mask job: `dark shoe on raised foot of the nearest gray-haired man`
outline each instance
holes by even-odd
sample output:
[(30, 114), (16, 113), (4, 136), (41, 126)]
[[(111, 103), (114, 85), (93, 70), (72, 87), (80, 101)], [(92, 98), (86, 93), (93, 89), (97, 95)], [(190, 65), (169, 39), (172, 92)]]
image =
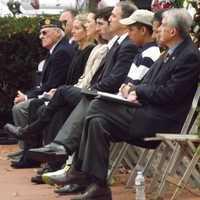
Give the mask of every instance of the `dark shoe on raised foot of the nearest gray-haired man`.
[(69, 171), (64, 174), (51, 177), (51, 181), (57, 185), (88, 185), (90, 183), (90, 177), (80, 171)]

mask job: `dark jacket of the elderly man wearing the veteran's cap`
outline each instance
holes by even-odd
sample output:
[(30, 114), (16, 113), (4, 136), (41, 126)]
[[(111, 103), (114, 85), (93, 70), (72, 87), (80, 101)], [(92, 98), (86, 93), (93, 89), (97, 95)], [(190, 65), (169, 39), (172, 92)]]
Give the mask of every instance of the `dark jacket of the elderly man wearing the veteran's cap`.
[(63, 38), (45, 61), (40, 87), (28, 91), (28, 98), (37, 97), (44, 91), (64, 84), (73, 55), (73, 46), (66, 38)]

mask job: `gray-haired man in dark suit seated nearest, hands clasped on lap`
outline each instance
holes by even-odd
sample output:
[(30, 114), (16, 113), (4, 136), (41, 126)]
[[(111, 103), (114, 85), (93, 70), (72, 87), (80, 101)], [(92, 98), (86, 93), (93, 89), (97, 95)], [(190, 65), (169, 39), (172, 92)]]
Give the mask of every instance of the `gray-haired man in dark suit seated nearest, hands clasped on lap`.
[[(179, 132), (200, 74), (200, 53), (189, 36), (192, 17), (185, 9), (163, 14), (159, 43), (168, 47), (138, 85), (123, 85), (124, 98), (142, 106), (94, 99), (87, 110), (76, 162), (57, 183), (88, 184), (72, 198), (112, 199), (107, 185), (110, 142), (134, 143), (156, 132)], [(67, 150), (67, 149), (66, 149)]]

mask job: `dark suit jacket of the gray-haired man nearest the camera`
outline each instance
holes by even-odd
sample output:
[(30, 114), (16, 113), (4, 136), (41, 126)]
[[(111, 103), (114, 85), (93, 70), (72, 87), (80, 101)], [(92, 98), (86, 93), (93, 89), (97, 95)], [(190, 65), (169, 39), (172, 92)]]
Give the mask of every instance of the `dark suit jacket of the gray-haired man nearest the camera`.
[(139, 138), (180, 132), (200, 74), (200, 53), (186, 38), (166, 63), (159, 59), (136, 86), (141, 108), (134, 110), (130, 133)]

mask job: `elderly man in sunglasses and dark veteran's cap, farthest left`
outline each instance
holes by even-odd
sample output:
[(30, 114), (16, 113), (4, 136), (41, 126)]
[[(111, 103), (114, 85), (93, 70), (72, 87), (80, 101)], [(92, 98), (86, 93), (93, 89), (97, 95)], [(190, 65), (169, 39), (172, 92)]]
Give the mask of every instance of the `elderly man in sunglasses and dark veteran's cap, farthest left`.
[[(16, 126), (24, 127), (28, 124), (28, 107), (33, 99), (65, 83), (67, 71), (74, 54), (74, 48), (66, 42), (65, 33), (59, 21), (44, 19), (41, 21), (40, 27), (39, 38), (42, 47), (48, 49), (49, 53), (43, 65), (40, 85), (26, 93), (18, 91), (14, 99), (15, 105), (12, 114)], [(19, 163), (22, 164), (21, 160), (19, 160)], [(22, 165), (25, 163), (23, 162)]]

